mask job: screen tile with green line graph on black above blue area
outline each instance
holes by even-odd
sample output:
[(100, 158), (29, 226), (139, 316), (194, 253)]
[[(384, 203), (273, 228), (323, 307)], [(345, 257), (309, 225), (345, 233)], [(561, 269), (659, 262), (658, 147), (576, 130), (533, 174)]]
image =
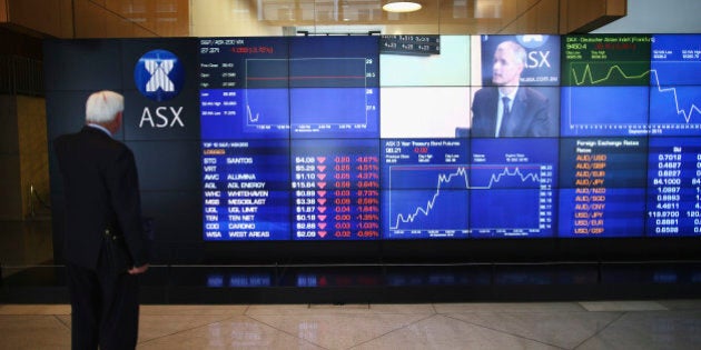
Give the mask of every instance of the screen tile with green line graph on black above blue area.
[(562, 136), (646, 134), (650, 36), (571, 36), (563, 42)]

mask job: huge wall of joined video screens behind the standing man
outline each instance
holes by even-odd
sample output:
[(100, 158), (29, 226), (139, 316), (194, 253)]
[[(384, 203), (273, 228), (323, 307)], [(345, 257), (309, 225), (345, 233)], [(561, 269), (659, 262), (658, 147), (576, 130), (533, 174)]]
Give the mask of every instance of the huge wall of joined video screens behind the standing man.
[(701, 36), (45, 48), (50, 136), (125, 93), (118, 137), (180, 242), (701, 236)]

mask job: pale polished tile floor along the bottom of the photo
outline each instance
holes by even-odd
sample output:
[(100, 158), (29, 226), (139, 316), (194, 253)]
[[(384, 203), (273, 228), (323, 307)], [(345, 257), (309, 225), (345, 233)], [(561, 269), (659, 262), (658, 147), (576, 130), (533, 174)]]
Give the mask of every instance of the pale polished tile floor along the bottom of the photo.
[[(0, 304), (0, 349), (69, 348), (69, 306)], [(701, 299), (146, 304), (138, 349), (701, 349)]]

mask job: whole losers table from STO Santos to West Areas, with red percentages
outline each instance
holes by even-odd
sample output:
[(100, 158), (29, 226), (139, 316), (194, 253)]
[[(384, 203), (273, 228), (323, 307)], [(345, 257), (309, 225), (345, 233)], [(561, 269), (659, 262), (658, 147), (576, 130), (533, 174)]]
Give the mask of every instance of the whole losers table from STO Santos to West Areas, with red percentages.
[(379, 238), (376, 140), (203, 144), (207, 240)]

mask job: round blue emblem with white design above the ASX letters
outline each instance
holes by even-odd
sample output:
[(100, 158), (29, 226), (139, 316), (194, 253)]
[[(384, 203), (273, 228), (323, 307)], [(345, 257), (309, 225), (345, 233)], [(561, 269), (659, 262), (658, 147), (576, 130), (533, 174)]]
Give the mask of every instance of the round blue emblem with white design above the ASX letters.
[(141, 94), (159, 102), (180, 93), (184, 77), (180, 60), (167, 50), (146, 52), (134, 68), (134, 82)]

